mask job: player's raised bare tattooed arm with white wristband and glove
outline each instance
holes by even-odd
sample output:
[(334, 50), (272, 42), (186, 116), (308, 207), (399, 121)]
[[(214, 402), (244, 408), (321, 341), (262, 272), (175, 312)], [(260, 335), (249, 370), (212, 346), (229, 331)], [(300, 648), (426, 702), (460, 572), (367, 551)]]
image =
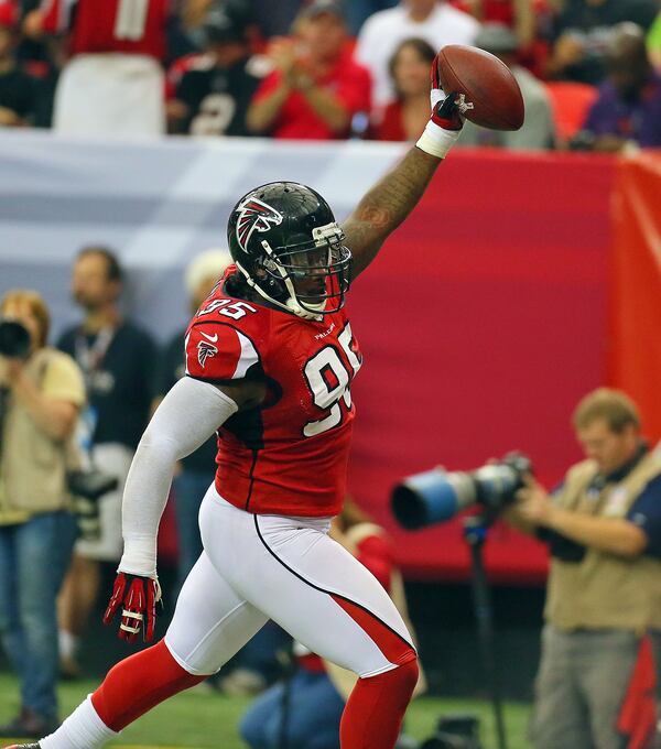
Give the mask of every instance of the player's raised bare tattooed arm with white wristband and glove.
[(459, 135), (462, 99), (447, 97), (432, 64), (432, 115), (418, 143), (360, 200), (343, 225), (354, 261), (351, 280), (377, 257), (388, 236), (418, 205), (436, 167)]

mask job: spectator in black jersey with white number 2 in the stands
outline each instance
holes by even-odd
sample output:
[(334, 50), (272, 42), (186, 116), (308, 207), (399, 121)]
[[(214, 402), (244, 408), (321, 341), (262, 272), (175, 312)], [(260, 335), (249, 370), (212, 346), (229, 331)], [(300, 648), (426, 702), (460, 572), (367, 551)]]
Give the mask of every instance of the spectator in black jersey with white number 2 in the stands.
[(246, 22), (231, 8), (216, 6), (203, 28), (205, 53), (188, 62), (175, 98), (167, 102), (170, 130), (248, 135), (246, 112), (264, 70), (250, 54)]

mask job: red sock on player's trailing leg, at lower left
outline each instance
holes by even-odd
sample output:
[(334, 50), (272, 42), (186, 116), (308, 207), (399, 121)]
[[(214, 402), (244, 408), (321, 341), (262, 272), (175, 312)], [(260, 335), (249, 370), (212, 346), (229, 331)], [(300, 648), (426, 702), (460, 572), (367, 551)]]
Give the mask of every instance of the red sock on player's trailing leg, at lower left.
[(91, 704), (108, 728), (119, 731), (167, 697), (205, 679), (182, 669), (161, 640), (110, 669), (91, 695)]

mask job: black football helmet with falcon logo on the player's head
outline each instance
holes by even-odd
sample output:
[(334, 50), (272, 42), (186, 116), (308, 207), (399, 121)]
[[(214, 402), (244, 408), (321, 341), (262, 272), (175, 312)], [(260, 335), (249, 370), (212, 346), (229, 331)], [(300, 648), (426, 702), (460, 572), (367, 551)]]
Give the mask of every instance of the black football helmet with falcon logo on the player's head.
[(231, 211), (227, 240), (248, 284), (272, 304), (306, 319), (344, 305), (351, 252), (311, 187), (270, 182), (251, 189)]

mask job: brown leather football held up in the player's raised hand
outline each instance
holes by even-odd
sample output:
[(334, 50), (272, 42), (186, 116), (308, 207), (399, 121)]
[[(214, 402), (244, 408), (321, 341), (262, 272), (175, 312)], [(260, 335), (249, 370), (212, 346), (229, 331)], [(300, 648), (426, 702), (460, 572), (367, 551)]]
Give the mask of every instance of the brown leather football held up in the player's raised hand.
[(491, 130), (519, 130), (523, 124), (521, 89), (498, 57), (477, 47), (447, 44), (437, 61), (443, 90), (465, 96), (466, 119)]

